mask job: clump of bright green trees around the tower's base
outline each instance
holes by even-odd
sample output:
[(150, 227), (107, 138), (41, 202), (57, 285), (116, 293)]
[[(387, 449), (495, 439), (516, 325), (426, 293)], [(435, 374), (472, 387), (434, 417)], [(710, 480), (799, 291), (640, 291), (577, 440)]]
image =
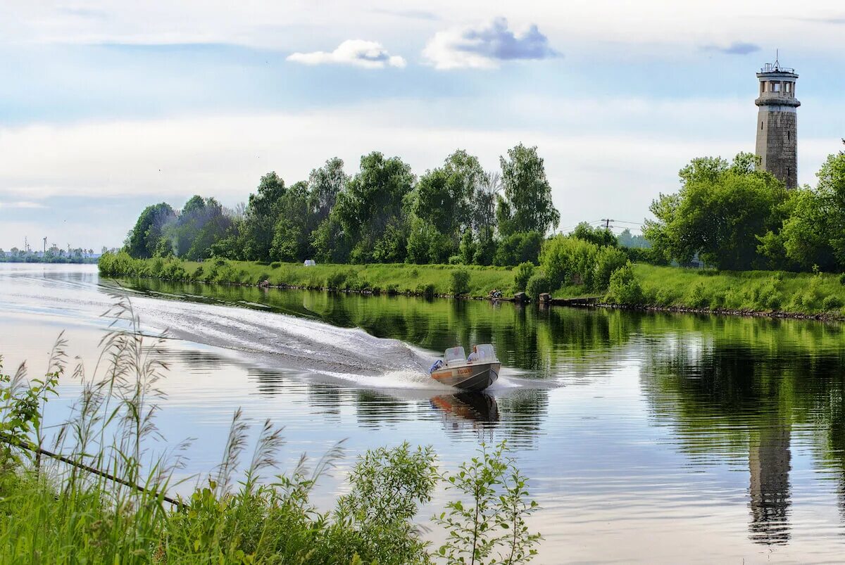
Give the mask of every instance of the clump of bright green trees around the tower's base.
[(750, 153), (690, 161), (679, 192), (651, 204), (654, 253), (724, 270), (845, 270), (845, 152), (828, 156), (815, 187), (794, 190), (756, 164)]

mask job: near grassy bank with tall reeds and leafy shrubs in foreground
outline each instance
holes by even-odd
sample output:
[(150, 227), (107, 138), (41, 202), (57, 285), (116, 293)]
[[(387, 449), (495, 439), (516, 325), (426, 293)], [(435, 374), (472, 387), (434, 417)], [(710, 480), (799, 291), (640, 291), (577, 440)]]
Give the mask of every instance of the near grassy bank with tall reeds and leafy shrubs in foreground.
[[(322, 510), (310, 495), (344, 456), (342, 443), (281, 470), (281, 428), (264, 421), (249, 454), (253, 434), (236, 410), (221, 464), (188, 497), (169, 502), (188, 446), (169, 456), (153, 451), (163, 432), (162, 340), (139, 334), (128, 302), (106, 315), (126, 329), (104, 338), (94, 374), (81, 364), (73, 371), (81, 392), (59, 426), (42, 422), (65, 376), (66, 342), (57, 342), (41, 379), (29, 381), (23, 369), (4, 375), (0, 356), (0, 562), (457, 565), (535, 555), (541, 538), (526, 518), (537, 505), (504, 443), (482, 446), (454, 471), (442, 470), (430, 447), (370, 449), (333, 508)], [(436, 489), (452, 502), (429, 521), (420, 509)], [(439, 528), (443, 546), (423, 539), (421, 522)]]

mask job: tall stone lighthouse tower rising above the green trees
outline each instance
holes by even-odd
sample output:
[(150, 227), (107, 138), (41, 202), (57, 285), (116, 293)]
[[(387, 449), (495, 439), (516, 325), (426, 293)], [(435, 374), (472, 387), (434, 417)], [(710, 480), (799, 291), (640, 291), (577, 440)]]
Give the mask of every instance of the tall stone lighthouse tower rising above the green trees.
[(798, 107), (793, 68), (767, 62), (760, 73), (760, 107), (757, 116), (757, 148), (760, 169), (779, 178), (787, 188), (798, 186)]

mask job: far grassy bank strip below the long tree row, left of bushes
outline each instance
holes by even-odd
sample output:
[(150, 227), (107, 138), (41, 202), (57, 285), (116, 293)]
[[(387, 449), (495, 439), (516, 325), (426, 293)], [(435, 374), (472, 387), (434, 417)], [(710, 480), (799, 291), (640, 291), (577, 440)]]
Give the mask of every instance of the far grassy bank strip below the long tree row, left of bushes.
[(487, 296), (512, 290), (514, 275), (506, 267), (476, 265), (414, 265), (407, 263), (338, 265), (254, 263), (210, 259), (203, 263), (179, 259), (134, 259), (126, 253), (106, 253), (99, 263), (106, 276), (154, 277), (210, 283), (274, 286), (395, 294)]

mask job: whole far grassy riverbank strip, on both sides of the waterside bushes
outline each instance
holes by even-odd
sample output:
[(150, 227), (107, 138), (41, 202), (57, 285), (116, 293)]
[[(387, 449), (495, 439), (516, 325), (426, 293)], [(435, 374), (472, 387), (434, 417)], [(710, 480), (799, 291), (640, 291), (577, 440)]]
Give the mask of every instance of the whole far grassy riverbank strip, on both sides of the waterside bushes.
[[(133, 259), (106, 254), (105, 276), (137, 276), (226, 285), (264, 285), (410, 296), (482, 298), (491, 291), (514, 294), (514, 271), (477, 265), (250, 263), (216, 259), (195, 263), (178, 259)], [(553, 292), (553, 304), (629, 307), (664, 312), (755, 315), (775, 318), (845, 318), (845, 285), (838, 274), (782, 271), (729, 272), (633, 265), (640, 286), (635, 302), (605, 300), (584, 285)]]

